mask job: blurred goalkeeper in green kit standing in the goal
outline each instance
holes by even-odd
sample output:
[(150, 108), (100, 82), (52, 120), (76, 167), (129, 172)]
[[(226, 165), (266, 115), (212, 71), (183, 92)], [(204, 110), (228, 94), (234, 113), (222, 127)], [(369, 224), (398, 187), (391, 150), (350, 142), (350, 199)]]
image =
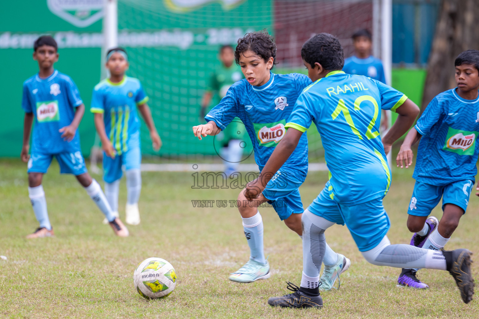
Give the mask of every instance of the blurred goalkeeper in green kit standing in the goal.
[[(219, 60), (221, 61), (221, 65), (211, 73), (205, 95), (201, 102), (201, 121), (205, 118), (206, 110), (211, 101), (214, 100), (214, 105), (217, 105), (219, 101), (226, 96), (229, 87), (243, 78), (241, 68), (234, 63), (234, 48), (231, 45), (221, 46), (219, 49)], [(235, 118), (228, 124), (226, 129), (216, 137), (221, 145), (220, 156), (225, 164), (225, 173), (228, 177), (238, 169), (238, 164), (241, 161), (241, 155), (244, 149), (244, 145), (241, 145), (241, 142), (245, 132), (244, 124), (239, 118)]]

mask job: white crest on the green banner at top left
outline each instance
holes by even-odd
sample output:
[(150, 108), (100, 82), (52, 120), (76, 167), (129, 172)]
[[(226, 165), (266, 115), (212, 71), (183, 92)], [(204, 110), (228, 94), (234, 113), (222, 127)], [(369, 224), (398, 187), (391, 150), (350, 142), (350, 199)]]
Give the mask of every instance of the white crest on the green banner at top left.
[(47, 0), (46, 4), (53, 14), (79, 28), (103, 17), (104, 0)]

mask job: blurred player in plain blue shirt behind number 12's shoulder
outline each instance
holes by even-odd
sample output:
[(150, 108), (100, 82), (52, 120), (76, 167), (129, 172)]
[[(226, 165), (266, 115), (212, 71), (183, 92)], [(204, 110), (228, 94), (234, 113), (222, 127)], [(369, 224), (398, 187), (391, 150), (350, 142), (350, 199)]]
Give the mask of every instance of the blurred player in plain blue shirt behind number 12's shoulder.
[[(386, 77), (384, 76), (383, 63), (380, 59), (371, 55), (373, 40), (369, 30), (358, 30), (353, 34), (352, 38), (354, 55), (344, 60), (342, 70), (347, 74), (364, 75), (365, 77), (370, 77), (387, 84)], [(388, 125), (388, 113), (386, 110), (382, 110), (382, 131), (386, 131)]]

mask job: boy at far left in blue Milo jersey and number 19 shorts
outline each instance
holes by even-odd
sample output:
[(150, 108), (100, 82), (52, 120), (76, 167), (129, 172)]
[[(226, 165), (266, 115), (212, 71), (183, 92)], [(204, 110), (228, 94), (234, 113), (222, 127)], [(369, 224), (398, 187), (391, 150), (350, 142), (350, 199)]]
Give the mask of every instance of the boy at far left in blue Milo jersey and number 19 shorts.
[[(100, 185), (91, 178), (80, 151), (77, 132), (85, 106), (78, 89), (65, 74), (54, 69), (58, 61), (57, 42), (51, 36), (41, 36), (34, 43), (34, 60), (38, 61), (38, 74), (23, 83), (22, 108), (23, 147), (21, 158), (28, 162), (28, 195), (40, 227), (27, 238), (53, 236), (53, 228), (46, 209), (43, 175), (55, 156), (60, 173), (74, 174), (88, 195), (110, 223), (118, 236), (128, 236), (128, 230), (115, 218)], [(35, 121), (32, 154), (29, 155), (30, 132)]]

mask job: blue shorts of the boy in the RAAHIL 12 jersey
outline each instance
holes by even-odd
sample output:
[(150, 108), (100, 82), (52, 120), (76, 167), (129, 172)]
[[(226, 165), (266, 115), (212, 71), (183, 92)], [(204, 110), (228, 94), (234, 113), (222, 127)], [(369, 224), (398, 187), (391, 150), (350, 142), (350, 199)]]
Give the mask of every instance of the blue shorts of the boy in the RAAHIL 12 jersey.
[(331, 222), (346, 224), (360, 252), (376, 247), (391, 226), (383, 207), (383, 199), (376, 198), (362, 204), (345, 206), (331, 198), (332, 188), (329, 187), (328, 182), (308, 210)]

